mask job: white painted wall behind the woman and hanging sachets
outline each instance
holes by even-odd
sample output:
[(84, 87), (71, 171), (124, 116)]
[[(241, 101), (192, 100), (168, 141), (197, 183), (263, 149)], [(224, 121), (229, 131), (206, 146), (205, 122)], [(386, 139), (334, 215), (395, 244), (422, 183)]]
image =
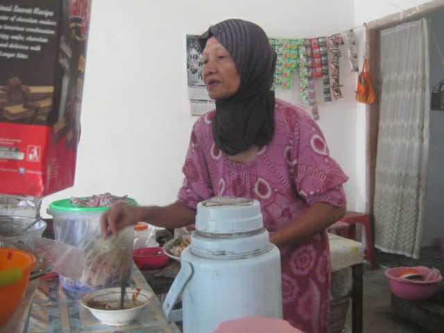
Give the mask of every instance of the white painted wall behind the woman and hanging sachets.
[[(46, 216), (53, 200), (105, 191), (128, 194), (144, 205), (176, 200), (196, 120), (187, 99), (187, 33), (199, 34), (210, 24), (237, 17), (256, 22), (269, 37), (319, 37), (384, 17), (398, 7), (384, 0), (94, 0), (76, 181), (74, 187), (44, 198), (42, 214)], [(365, 114), (354, 99), (357, 74), (349, 68), (343, 57), (344, 98), (321, 103), (318, 123), (330, 152), (350, 176), (345, 184), (349, 209), (364, 210)], [(298, 94), (292, 89), (277, 95), (299, 103)]]

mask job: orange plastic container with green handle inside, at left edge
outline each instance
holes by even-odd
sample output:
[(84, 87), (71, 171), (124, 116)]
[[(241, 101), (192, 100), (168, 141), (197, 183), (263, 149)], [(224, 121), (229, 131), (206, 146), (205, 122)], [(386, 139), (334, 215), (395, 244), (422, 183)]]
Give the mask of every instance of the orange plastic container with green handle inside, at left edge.
[(31, 253), (15, 248), (0, 248), (0, 271), (20, 267), (23, 272), (19, 281), (0, 287), (0, 299), (3, 302), (0, 307), (0, 327), (8, 323), (22, 302), (34, 265), (35, 257)]

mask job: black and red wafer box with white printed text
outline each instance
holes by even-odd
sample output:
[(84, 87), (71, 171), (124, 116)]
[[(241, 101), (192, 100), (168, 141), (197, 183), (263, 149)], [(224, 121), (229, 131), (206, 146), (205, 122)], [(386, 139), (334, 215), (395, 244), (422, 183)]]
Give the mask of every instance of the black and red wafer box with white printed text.
[(0, 193), (74, 185), (92, 0), (0, 2)]

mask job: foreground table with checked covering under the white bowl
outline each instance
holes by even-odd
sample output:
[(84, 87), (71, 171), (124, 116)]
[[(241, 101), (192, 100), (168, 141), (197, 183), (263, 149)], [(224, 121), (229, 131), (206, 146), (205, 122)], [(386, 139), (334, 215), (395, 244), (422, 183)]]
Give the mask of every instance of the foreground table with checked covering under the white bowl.
[[(130, 287), (153, 291), (133, 263)], [(80, 304), (82, 293), (63, 289), (58, 277), (40, 279), (26, 316), (23, 333), (180, 333), (175, 323), (165, 318), (160, 300), (154, 298), (136, 321), (121, 327), (102, 324)]]

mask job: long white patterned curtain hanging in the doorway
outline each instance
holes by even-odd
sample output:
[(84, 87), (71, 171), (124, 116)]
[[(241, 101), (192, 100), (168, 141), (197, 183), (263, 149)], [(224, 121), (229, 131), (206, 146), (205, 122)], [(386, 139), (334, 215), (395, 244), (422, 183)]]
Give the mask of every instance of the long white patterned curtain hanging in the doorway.
[(429, 152), (427, 21), (380, 31), (375, 247), (418, 258)]

